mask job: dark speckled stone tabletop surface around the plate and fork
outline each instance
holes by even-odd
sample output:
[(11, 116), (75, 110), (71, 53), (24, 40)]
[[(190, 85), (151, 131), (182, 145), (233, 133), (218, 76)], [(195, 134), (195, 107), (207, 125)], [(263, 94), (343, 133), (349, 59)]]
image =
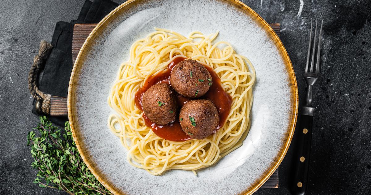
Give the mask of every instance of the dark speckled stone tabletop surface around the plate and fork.
[[(122, 1), (116, 1), (122, 3)], [(315, 85), (308, 194), (371, 193), (371, 5), (368, 0), (244, 1), (268, 23), (281, 23), (281, 40), (292, 60), (302, 102), (302, 78), (311, 17), (325, 19), (323, 77)], [(5, 0), (0, 6), (0, 194), (58, 194), (33, 184), (36, 170), (26, 134), (36, 126), (27, 74), (41, 39), (51, 40), (55, 23), (75, 19), (81, 0)], [(295, 135), (294, 142), (295, 144)], [(280, 166), (278, 189), (256, 194), (288, 194), (292, 156)], [(63, 193), (60, 193), (63, 194)]]

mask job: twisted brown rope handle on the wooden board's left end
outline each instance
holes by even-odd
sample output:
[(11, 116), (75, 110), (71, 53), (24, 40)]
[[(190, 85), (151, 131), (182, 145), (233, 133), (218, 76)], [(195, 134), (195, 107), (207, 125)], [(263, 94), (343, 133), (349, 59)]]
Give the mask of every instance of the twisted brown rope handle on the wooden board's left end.
[(37, 79), (39, 72), (45, 65), (45, 61), (52, 51), (53, 45), (42, 40), (39, 46), (39, 53), (33, 58), (33, 64), (28, 74), (28, 88), (33, 98), (36, 99), (36, 111), (37, 113), (50, 113), (50, 98), (52, 95), (44, 93), (39, 90)]

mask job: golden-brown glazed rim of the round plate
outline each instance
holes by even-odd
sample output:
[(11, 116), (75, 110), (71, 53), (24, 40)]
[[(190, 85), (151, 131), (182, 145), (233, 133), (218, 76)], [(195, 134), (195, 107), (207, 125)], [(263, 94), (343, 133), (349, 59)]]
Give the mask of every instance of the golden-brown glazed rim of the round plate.
[[(75, 140), (76, 146), (80, 152), (80, 155), (83, 159), (83, 161), (86, 163), (86, 166), (91, 170), (93, 175), (96, 179), (98, 179), (99, 182), (101, 182), (110, 192), (113, 194), (124, 194), (121, 189), (115, 188), (111, 182), (102, 174), (102, 172), (96, 168), (95, 163), (93, 163), (90, 160), (90, 154), (85, 149), (84, 143), (80, 142), (82, 138), (81, 131), (79, 130), (79, 122), (77, 120), (77, 113), (74, 108), (76, 108), (76, 85), (79, 82), (79, 75), (81, 74), (81, 69), (83, 62), (86, 58), (86, 51), (91, 47), (93, 44), (93, 41), (96, 36), (101, 34), (102, 30), (105, 29), (107, 24), (111, 22), (114, 18), (120, 15), (120, 13), (125, 12), (126, 10), (130, 9), (131, 6), (134, 4), (140, 2), (142, 0), (128, 0), (125, 3), (121, 4), (120, 6), (116, 7), (116, 9), (112, 10), (104, 19), (102, 19), (101, 22), (98, 23), (98, 25), (93, 29), (93, 31), (90, 33), (88, 38), (85, 40), (77, 58), (75, 61), (75, 65), (72, 69), (72, 74), (69, 82), (68, 87), (68, 119), (70, 122), (70, 126), (73, 133), (73, 139)], [(283, 157), (285, 157), (286, 152), (290, 146), (291, 139), (295, 130), (295, 124), (298, 116), (298, 86), (296, 84), (296, 78), (295, 78), (295, 72), (292, 67), (289, 55), (283, 46), (281, 40), (278, 38), (276, 33), (273, 31), (273, 29), (268, 25), (268, 23), (261, 17), (259, 14), (257, 14), (254, 10), (252, 10), (250, 7), (246, 6), (242, 2), (238, 0), (223, 0), (227, 1), (228, 3), (239, 7), (240, 9), (244, 10), (246, 14), (250, 14), (252, 18), (260, 24), (260, 26), (266, 30), (269, 37), (273, 40), (273, 42), (276, 44), (280, 51), (280, 55), (283, 58), (283, 61), (285, 62), (286, 70), (288, 72), (289, 76), (289, 82), (290, 82), (290, 92), (291, 92), (291, 113), (289, 118), (289, 126), (286, 131), (286, 137), (282, 148), (280, 149), (280, 153), (276, 156), (274, 159), (274, 162), (272, 163), (271, 167), (265, 171), (262, 178), (257, 179), (251, 188), (244, 189), (242, 194), (253, 194), (257, 189), (259, 189), (269, 178), (270, 176), (275, 172), (275, 170), (278, 168), (280, 163), (283, 160)]]

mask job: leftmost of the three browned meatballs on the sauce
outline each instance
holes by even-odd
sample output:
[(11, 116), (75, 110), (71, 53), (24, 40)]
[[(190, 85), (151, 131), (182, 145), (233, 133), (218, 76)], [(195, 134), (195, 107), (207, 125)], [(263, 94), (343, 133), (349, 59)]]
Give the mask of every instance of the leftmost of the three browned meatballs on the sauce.
[(166, 83), (155, 84), (144, 92), (142, 106), (145, 115), (157, 124), (168, 124), (177, 116), (175, 92)]

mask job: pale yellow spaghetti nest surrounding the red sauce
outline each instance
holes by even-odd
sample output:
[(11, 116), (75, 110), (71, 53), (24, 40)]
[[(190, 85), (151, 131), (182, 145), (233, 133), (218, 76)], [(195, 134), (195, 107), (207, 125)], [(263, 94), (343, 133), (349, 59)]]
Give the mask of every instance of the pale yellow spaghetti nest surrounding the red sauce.
[[(156, 28), (130, 49), (129, 61), (118, 71), (108, 97), (116, 114), (108, 117), (108, 127), (128, 150), (128, 162), (152, 175), (165, 170), (195, 170), (211, 166), (242, 145), (250, 127), (252, 86), (255, 69), (249, 59), (236, 54), (228, 42), (212, 44), (217, 33), (208, 36), (191, 32), (188, 37)], [(223, 49), (217, 46), (225, 45)], [(232, 106), (223, 127), (206, 139), (172, 142), (158, 137), (145, 125), (143, 113), (135, 105), (135, 93), (151, 75), (166, 69), (182, 56), (210, 66), (219, 76), (224, 90), (232, 97)]]

